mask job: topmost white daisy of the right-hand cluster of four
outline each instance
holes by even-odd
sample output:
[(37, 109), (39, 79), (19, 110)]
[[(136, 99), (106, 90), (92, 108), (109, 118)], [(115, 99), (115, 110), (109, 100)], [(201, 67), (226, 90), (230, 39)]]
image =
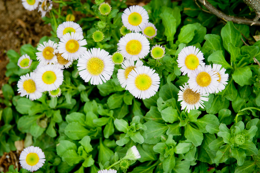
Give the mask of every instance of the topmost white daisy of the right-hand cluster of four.
[(199, 65), (205, 65), (203, 60), (203, 53), (199, 51), (199, 48), (188, 46), (181, 49), (177, 62), (178, 67), (181, 67), (180, 71), (183, 72), (183, 75), (188, 74), (188, 77), (190, 77), (191, 72), (197, 69)]

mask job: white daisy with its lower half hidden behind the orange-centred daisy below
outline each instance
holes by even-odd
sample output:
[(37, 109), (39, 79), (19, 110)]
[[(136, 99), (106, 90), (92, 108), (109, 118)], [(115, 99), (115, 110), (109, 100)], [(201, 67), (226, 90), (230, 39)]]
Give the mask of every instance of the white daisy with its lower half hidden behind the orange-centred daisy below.
[(73, 21), (63, 22), (62, 24), (59, 24), (57, 28), (57, 37), (61, 39), (64, 34), (72, 33), (72, 32), (83, 35), (82, 28), (80, 27), (79, 24)]

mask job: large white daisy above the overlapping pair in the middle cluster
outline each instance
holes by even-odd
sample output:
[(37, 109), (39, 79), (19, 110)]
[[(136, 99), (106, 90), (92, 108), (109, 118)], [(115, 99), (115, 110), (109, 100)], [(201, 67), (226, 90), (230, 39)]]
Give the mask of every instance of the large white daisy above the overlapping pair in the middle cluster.
[(117, 43), (117, 50), (128, 60), (139, 60), (148, 55), (150, 42), (141, 33), (129, 33), (123, 36)]

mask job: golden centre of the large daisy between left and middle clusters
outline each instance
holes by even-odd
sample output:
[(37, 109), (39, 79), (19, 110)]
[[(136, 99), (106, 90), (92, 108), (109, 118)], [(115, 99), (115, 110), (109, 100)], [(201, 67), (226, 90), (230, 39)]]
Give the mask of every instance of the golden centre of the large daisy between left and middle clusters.
[(97, 57), (92, 57), (88, 60), (86, 69), (88, 70), (89, 74), (98, 76), (103, 72), (104, 62)]

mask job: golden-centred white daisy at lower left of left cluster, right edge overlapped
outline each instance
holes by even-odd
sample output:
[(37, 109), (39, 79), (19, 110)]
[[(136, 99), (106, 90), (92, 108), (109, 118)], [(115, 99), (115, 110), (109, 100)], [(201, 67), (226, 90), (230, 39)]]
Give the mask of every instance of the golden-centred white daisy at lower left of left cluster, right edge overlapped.
[(20, 77), (17, 83), (17, 91), (21, 93), (20, 96), (23, 97), (26, 95), (26, 98), (29, 97), (30, 100), (36, 100), (42, 97), (42, 89), (35, 82), (35, 72), (27, 73)]

